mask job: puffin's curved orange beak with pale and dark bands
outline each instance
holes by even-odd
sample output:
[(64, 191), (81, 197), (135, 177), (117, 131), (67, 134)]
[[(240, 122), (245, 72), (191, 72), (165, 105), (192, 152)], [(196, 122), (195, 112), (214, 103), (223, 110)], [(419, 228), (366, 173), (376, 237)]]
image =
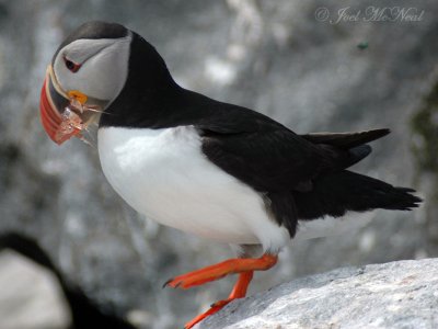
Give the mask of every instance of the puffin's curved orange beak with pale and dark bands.
[(80, 124), (71, 124), (65, 115), (70, 102), (71, 98), (59, 87), (51, 66), (48, 66), (41, 93), (39, 112), (44, 129), (58, 145), (81, 133)]

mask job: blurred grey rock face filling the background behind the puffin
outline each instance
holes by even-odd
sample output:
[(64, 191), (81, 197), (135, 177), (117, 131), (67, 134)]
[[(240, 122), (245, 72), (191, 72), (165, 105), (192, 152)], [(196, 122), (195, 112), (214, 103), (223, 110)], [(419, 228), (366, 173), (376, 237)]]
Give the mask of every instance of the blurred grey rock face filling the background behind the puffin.
[[(79, 140), (58, 147), (45, 136), (37, 109), (46, 65), (70, 31), (95, 19), (145, 36), (182, 86), (261, 111), (298, 133), (390, 127), (392, 135), (355, 169), (395, 185), (413, 185), (416, 177), (417, 189), (434, 186), (434, 174), (415, 173), (411, 145), (424, 143), (424, 136), (413, 135), (410, 120), (437, 80), (438, 18), (433, 13), (438, 4), (348, 5), (1, 1), (0, 230), (36, 237), (92, 298), (145, 328), (181, 326), (231, 288), (233, 279), (201, 290), (162, 290), (166, 279), (231, 252), (138, 217), (106, 183), (95, 148)], [(417, 21), (402, 19), (395, 7), (424, 14)], [(369, 8), (383, 10), (390, 20), (367, 20)], [(338, 21), (344, 9), (347, 19)], [(293, 243), (277, 269), (257, 275), (252, 290), (345, 264), (437, 254), (424, 211), (369, 216), (374, 220), (358, 232)]]

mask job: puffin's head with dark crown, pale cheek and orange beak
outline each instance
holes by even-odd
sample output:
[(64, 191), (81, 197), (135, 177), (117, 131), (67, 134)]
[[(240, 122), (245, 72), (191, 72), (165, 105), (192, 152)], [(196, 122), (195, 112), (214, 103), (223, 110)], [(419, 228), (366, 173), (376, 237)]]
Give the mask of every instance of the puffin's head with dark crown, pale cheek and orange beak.
[(132, 33), (89, 22), (59, 46), (41, 94), (41, 118), (57, 144), (80, 135), (120, 93), (128, 75)]

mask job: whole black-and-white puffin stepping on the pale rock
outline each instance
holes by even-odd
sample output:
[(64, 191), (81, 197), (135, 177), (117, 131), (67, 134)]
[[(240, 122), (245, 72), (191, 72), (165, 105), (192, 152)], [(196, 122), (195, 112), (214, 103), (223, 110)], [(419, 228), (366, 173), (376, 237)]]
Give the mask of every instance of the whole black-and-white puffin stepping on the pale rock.
[(97, 124), (103, 173), (138, 213), (233, 247), (235, 258), (165, 282), (191, 288), (238, 276), (227, 298), (185, 328), (244, 297), (254, 271), (274, 266), (300, 226), (422, 202), (413, 189), (349, 169), (389, 129), (296, 134), (260, 112), (181, 87), (157, 49), (117, 23), (84, 23), (61, 43), (39, 112), (58, 145)]

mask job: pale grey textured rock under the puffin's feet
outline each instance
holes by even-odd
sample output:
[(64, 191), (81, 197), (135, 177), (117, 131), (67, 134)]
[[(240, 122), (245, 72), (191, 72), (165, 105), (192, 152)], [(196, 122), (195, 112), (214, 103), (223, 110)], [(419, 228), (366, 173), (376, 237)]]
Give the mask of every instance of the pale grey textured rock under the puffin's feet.
[(344, 268), (228, 305), (198, 328), (438, 327), (438, 259)]

